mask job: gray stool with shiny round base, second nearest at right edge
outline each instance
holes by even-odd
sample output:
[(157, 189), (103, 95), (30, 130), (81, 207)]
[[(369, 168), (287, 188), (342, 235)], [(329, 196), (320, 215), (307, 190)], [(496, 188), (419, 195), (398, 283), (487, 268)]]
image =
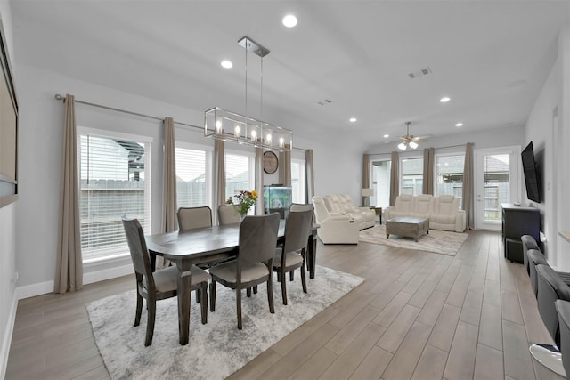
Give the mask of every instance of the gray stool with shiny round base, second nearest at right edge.
[(566, 376), (562, 365), (562, 356), (558, 349), (560, 344), (560, 333), (558, 323), (558, 313), (554, 303), (557, 300), (570, 301), (570, 287), (568, 287), (558, 273), (549, 265), (536, 265), (538, 279), (538, 311), (541, 314), (544, 327), (548, 330), (555, 345), (533, 344), (530, 347), (531, 355), (544, 367), (556, 372), (560, 376)]

